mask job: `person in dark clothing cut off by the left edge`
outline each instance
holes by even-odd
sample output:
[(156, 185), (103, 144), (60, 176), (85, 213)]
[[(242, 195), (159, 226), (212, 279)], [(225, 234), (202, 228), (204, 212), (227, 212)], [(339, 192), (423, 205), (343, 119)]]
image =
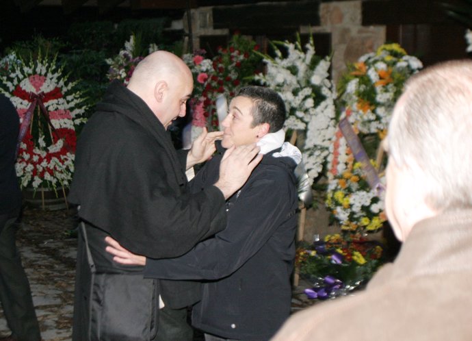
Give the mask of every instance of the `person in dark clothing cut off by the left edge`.
[(0, 301), (12, 335), (0, 340), (37, 341), (40, 329), (29, 282), (16, 249), (16, 220), (21, 190), (16, 178), (16, 144), (20, 118), (12, 102), (0, 94)]

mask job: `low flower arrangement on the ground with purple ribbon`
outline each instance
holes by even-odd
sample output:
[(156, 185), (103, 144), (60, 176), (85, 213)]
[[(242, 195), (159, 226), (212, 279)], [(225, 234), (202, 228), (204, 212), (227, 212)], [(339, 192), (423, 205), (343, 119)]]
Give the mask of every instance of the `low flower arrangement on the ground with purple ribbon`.
[(382, 244), (359, 235), (328, 235), (296, 253), (300, 275), (313, 283), (304, 290), (309, 299), (332, 299), (363, 288), (383, 263)]

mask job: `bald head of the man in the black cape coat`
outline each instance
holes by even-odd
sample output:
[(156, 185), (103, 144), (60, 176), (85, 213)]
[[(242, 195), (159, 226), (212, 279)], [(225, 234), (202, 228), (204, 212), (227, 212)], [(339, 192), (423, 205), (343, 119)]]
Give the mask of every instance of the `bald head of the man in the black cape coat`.
[(185, 102), (193, 87), (192, 71), (168, 51), (156, 51), (144, 58), (128, 84), (166, 128), (176, 117), (185, 116)]

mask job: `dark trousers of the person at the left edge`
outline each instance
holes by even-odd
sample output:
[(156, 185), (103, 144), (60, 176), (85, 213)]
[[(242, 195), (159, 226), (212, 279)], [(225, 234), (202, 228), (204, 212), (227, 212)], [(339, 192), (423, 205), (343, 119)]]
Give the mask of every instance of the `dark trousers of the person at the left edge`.
[(29, 281), (16, 249), (18, 213), (0, 214), (0, 301), (12, 336), (20, 341), (38, 341), (40, 329)]

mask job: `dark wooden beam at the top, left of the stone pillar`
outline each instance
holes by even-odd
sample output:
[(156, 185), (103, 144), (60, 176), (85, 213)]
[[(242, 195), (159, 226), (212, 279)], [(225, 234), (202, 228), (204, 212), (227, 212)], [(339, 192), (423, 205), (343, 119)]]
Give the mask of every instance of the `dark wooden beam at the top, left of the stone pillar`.
[(213, 28), (228, 28), (248, 34), (297, 30), (301, 25), (319, 25), (319, 0), (213, 8)]

